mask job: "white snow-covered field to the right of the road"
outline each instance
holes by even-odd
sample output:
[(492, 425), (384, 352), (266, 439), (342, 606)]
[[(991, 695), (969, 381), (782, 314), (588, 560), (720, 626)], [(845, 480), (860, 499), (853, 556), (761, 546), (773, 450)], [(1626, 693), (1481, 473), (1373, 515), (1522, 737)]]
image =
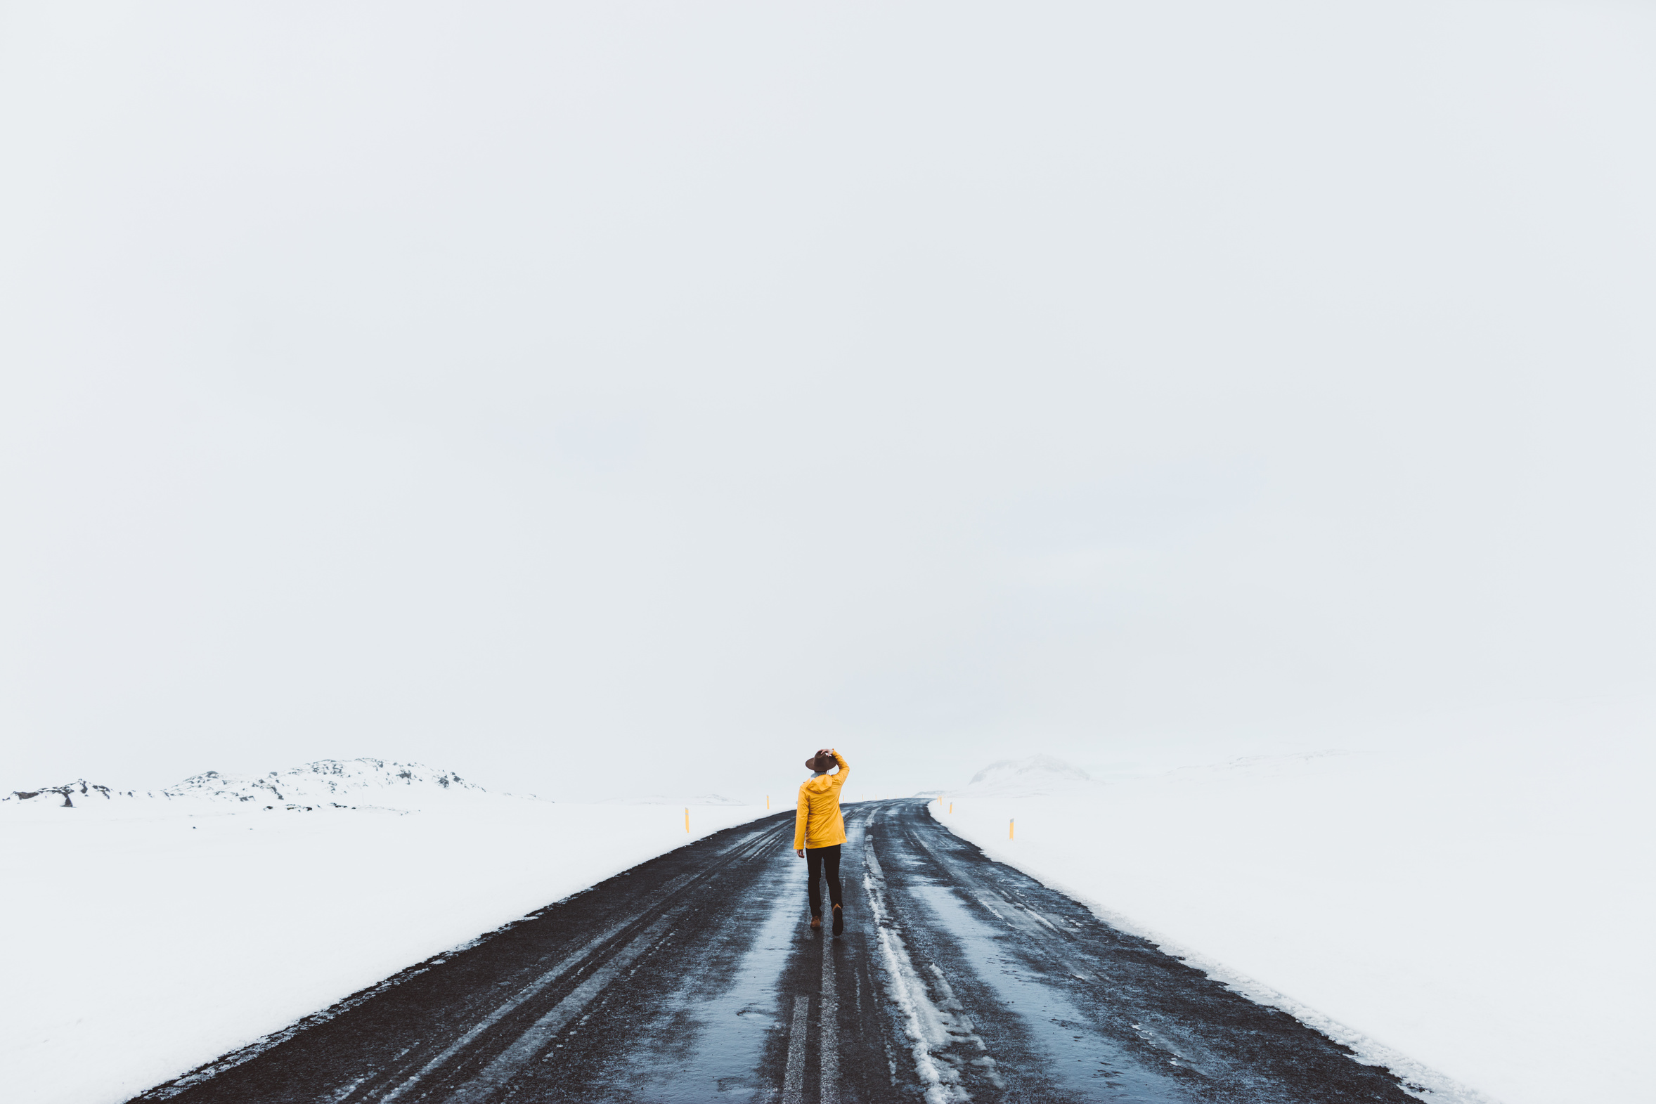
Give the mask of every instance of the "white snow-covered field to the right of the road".
[[(934, 813), (1431, 1099), (1649, 1101), (1651, 710), (1464, 715), (1111, 783), (1002, 768)], [(949, 814), (949, 803), (954, 813)], [(1015, 838), (1009, 841), (1009, 821)]]

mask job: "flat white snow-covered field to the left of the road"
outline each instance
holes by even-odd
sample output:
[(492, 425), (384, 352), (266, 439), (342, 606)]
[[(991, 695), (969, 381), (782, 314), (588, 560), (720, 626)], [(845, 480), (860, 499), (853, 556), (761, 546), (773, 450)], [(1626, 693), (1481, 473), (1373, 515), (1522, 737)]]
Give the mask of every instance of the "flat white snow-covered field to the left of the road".
[(224, 793), (0, 803), (5, 1099), (124, 1101), (765, 813), (692, 804), (686, 833), (682, 803), (553, 804), (431, 781), (335, 796), (379, 808)]

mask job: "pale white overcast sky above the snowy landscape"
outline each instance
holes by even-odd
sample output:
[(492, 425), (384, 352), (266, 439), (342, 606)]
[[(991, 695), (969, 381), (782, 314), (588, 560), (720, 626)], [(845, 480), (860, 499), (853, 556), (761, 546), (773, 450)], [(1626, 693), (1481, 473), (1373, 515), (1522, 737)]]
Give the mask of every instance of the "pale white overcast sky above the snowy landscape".
[(12, 0), (0, 790), (898, 793), (1643, 692), (1653, 58), (1586, 0)]

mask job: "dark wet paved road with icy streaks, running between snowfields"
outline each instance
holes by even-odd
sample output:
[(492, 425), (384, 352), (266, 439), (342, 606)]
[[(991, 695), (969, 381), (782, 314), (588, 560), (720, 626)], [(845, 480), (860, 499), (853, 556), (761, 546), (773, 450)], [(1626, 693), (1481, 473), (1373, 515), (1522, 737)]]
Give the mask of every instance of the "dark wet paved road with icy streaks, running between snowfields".
[(846, 806), (846, 934), (813, 934), (792, 833), (702, 839), (137, 1099), (1414, 1099), (921, 801)]

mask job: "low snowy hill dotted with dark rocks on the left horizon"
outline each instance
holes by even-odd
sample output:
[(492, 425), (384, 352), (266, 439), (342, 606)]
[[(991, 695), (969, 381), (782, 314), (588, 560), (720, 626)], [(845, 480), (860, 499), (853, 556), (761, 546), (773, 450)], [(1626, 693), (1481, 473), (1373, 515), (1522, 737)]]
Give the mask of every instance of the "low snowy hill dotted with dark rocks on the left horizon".
[(268, 775), (224, 775), (205, 771), (164, 790), (111, 790), (84, 778), (63, 786), (13, 790), (0, 803), (56, 804), (66, 808), (99, 808), (104, 803), (204, 801), (237, 803), (255, 808), (316, 808), (359, 804), (379, 808), (424, 808), (432, 799), (454, 794), (490, 794), (454, 771), (422, 763), (388, 763), (386, 760), (316, 760)]

